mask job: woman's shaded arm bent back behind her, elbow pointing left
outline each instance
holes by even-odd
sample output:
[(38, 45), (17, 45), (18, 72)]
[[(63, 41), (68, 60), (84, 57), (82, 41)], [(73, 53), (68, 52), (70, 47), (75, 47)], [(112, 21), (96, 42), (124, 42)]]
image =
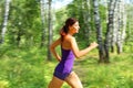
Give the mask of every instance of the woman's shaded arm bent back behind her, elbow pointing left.
[(61, 38), (58, 38), (55, 42), (53, 42), (51, 45), (50, 45), (50, 51), (51, 53), (53, 54), (53, 56), (55, 56), (55, 58), (60, 62), (61, 61), (61, 57), (59, 56), (59, 54), (55, 52), (55, 47), (58, 45), (61, 44)]

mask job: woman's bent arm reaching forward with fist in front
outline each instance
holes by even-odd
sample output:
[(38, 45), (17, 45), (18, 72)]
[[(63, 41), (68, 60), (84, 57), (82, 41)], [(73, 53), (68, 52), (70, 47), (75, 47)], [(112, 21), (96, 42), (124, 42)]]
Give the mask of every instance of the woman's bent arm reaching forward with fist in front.
[(72, 48), (72, 51), (73, 51), (73, 53), (74, 53), (74, 55), (75, 55), (76, 58), (85, 55), (85, 54), (89, 53), (91, 50), (93, 50), (93, 48), (95, 48), (95, 47), (98, 46), (98, 44), (94, 42), (94, 43), (92, 43), (89, 47), (80, 51), (74, 37), (71, 38), (70, 43), (71, 43), (71, 48)]

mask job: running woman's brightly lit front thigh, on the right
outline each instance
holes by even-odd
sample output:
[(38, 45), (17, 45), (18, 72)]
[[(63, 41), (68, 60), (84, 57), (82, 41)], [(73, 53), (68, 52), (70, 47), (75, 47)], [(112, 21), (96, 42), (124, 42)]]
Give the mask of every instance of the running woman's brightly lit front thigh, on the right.
[(83, 88), (80, 78), (78, 75), (72, 72), (66, 78), (65, 81), (72, 87), (72, 88)]

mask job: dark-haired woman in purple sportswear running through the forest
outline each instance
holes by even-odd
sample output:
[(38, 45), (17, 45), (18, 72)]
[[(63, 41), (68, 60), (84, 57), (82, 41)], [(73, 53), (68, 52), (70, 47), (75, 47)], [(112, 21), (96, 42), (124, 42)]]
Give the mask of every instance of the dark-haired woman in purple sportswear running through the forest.
[[(54, 69), (53, 78), (49, 84), (49, 88), (61, 88), (63, 82), (68, 82), (72, 88), (83, 88), (78, 75), (72, 70), (74, 57), (79, 58), (88, 54), (98, 46), (92, 43), (85, 50), (80, 51), (73, 34), (79, 32), (79, 22), (73, 18), (65, 21), (65, 25), (61, 29), (61, 37), (53, 42), (50, 46), (51, 53), (59, 61)], [(55, 47), (61, 45), (62, 56), (55, 52)]]

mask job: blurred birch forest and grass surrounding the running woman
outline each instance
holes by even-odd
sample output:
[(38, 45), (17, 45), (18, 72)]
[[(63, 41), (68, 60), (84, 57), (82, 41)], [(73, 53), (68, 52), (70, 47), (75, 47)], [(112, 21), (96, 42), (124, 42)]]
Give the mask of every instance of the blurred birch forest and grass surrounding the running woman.
[(99, 44), (74, 62), (83, 88), (133, 88), (133, 0), (57, 2), (0, 0), (0, 88), (48, 88), (58, 65), (49, 47), (68, 18), (79, 20), (80, 50)]

